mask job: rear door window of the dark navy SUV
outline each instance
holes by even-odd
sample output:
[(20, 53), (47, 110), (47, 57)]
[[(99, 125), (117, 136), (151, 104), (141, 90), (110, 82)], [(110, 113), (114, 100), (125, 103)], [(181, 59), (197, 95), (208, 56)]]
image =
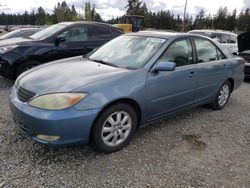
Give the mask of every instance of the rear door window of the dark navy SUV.
[(108, 27), (92, 26), (91, 39), (92, 40), (105, 40), (111, 38), (111, 31)]

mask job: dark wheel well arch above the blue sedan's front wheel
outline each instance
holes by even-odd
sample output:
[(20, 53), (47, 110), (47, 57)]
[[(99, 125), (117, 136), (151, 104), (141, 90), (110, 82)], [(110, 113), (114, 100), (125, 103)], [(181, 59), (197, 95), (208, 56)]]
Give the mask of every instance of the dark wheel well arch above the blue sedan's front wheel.
[[(99, 112), (99, 114), (96, 116), (96, 118), (95, 118), (95, 120), (94, 120), (94, 122), (93, 122), (93, 125), (95, 124), (96, 120), (99, 118), (99, 116), (101, 115), (101, 113), (102, 113), (105, 109), (107, 109), (107, 108), (109, 108), (110, 106), (113, 106), (113, 105), (115, 105), (115, 104), (117, 104), (117, 103), (126, 103), (126, 104), (129, 104), (129, 105), (135, 110), (136, 115), (137, 115), (137, 117), (138, 117), (138, 119), (137, 119), (137, 128), (138, 128), (138, 127), (140, 126), (140, 124), (141, 124), (141, 115), (142, 115), (142, 113), (141, 113), (141, 108), (140, 108), (139, 104), (138, 104), (135, 100), (129, 99), (129, 98), (118, 99), (118, 100), (112, 101), (111, 103), (107, 104), (107, 105)], [(93, 128), (93, 126), (91, 127), (90, 138), (91, 138), (92, 128)]]

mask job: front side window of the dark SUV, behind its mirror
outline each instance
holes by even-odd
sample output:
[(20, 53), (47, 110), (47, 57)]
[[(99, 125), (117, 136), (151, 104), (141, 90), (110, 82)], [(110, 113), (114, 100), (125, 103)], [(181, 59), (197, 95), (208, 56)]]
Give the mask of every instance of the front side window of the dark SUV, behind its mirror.
[(84, 26), (76, 26), (64, 31), (61, 35), (66, 37), (66, 41), (87, 41), (88, 29)]

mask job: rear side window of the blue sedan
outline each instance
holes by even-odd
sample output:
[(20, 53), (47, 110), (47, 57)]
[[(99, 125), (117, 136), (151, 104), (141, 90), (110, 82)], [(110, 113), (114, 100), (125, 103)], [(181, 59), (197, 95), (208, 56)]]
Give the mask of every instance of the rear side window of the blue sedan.
[(209, 62), (225, 59), (225, 56), (210, 41), (204, 39), (194, 39), (198, 62)]

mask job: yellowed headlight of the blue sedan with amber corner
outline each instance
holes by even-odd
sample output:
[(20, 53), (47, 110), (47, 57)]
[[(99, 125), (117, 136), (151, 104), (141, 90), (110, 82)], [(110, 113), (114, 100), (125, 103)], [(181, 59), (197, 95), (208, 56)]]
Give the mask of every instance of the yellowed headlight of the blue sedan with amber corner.
[(54, 93), (39, 96), (29, 102), (30, 106), (47, 110), (62, 110), (87, 97), (87, 93)]

